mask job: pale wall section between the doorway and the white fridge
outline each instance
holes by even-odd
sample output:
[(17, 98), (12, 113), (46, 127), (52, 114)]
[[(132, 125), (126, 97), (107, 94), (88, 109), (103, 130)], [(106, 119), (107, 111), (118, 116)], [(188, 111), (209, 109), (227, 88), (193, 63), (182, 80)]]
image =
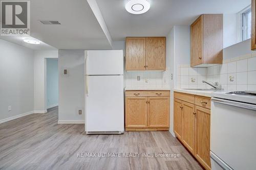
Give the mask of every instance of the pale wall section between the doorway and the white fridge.
[[(63, 70), (68, 74), (64, 75)], [(59, 50), (59, 121), (81, 123), (84, 121), (84, 51)], [(82, 114), (78, 114), (82, 110)]]

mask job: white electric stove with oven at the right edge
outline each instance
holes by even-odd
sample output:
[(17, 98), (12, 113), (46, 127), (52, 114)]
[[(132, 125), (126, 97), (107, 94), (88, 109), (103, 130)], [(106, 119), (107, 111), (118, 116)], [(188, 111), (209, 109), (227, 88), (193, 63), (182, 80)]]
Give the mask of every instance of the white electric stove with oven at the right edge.
[(256, 169), (256, 95), (216, 92), (211, 98), (211, 169)]

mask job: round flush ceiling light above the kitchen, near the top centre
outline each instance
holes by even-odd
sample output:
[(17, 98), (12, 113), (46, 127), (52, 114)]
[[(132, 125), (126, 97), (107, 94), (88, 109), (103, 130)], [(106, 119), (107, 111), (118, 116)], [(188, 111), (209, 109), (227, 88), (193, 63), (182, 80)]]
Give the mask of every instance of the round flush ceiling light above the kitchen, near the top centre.
[(132, 14), (143, 14), (150, 9), (150, 3), (147, 0), (130, 0), (125, 9)]

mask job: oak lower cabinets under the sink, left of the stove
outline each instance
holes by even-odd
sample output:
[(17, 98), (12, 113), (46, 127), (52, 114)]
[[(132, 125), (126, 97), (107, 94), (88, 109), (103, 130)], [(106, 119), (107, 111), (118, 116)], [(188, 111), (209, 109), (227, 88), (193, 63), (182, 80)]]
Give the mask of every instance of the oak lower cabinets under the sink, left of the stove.
[(210, 98), (174, 92), (174, 133), (210, 170)]

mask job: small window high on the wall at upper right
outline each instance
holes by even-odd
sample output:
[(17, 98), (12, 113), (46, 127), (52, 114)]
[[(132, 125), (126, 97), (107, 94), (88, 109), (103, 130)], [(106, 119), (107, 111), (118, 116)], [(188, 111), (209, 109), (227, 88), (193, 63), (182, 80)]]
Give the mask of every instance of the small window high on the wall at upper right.
[(251, 9), (242, 13), (242, 40), (251, 38)]

